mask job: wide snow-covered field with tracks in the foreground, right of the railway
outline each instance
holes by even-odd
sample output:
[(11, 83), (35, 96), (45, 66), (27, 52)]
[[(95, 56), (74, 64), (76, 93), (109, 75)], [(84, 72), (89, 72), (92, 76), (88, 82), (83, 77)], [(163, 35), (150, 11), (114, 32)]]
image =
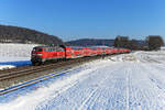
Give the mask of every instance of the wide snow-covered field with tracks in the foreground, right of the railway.
[(165, 110), (165, 52), (85, 64), (0, 96), (0, 110)]

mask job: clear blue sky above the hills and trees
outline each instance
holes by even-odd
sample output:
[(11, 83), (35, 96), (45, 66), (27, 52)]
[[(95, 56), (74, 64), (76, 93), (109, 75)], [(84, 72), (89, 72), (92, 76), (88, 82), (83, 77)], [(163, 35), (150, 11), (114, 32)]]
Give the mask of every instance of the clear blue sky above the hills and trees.
[(165, 0), (0, 0), (0, 24), (76, 38), (165, 38)]

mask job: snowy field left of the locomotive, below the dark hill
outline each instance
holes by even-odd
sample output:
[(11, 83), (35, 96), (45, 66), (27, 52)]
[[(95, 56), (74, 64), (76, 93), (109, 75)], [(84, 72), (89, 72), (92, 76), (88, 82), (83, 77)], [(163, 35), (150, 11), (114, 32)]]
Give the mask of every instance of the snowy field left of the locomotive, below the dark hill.
[(30, 65), (34, 44), (0, 44), (0, 69)]

